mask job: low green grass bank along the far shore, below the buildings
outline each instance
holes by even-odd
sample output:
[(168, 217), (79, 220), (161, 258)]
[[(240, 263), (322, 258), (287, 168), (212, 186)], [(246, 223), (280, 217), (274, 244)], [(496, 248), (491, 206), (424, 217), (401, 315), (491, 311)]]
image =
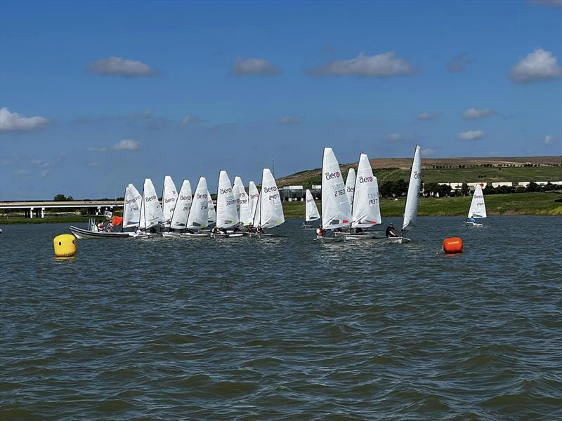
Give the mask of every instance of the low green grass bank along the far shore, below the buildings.
[[(419, 199), (421, 216), (463, 216), (469, 212), (471, 196)], [(485, 196), (488, 215), (562, 215), (562, 194), (553, 192), (492, 194)], [(321, 210), (320, 202), (317, 203)], [(381, 215), (402, 216), (405, 198), (381, 200)], [(304, 218), (304, 202), (283, 202), (285, 218)]]

